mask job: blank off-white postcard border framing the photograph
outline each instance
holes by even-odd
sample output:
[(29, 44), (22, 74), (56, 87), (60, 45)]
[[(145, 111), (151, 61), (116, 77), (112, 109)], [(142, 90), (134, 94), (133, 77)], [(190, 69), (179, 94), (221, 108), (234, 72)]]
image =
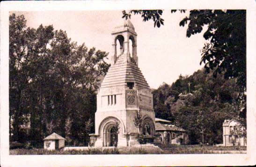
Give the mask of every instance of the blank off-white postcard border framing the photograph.
[[(8, 127), (8, 17), (9, 11), (75, 11), (122, 9), (247, 9), (247, 154), (159, 155), (9, 155)], [(238, 166), (255, 165), (255, 0), (86, 0), (2, 1), (0, 4), (0, 163), (2, 167), (27, 166)]]

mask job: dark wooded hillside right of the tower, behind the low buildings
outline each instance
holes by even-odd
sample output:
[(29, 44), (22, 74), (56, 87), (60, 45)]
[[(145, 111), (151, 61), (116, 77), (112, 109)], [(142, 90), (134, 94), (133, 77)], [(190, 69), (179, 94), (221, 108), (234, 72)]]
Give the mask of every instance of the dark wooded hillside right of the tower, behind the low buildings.
[(236, 119), (246, 126), (246, 108), (235, 79), (217, 78), (205, 69), (179, 76), (172, 85), (153, 91), (156, 117), (168, 119), (189, 132), (191, 144), (222, 143), (222, 123)]

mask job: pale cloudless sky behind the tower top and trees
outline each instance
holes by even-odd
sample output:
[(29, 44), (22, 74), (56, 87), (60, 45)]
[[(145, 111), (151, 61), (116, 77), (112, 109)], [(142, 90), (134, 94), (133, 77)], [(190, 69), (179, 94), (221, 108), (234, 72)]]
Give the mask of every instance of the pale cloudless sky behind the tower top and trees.
[[(95, 47), (111, 53), (111, 31), (121, 25), (121, 11), (55, 11), (55, 12), (15, 12), (25, 15), (27, 26), (37, 28), (53, 25), (54, 29), (66, 30), (68, 37), (88, 48)], [(201, 69), (200, 50), (205, 39), (203, 33), (186, 37), (187, 25), (179, 22), (189, 12), (164, 11), (164, 26), (154, 28), (154, 22), (142, 22), (140, 15), (132, 15), (131, 22), (137, 33), (137, 55), (139, 68), (151, 88), (158, 88), (163, 82), (172, 84), (180, 74), (190, 75)], [(109, 55), (110, 57), (110, 55)]]

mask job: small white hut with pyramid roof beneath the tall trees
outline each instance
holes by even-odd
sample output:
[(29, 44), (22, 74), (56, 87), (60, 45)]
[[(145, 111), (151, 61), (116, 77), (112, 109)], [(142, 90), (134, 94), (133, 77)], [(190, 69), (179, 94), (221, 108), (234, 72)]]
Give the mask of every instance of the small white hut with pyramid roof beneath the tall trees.
[(57, 133), (52, 133), (44, 140), (44, 149), (55, 150), (65, 146), (65, 138), (59, 136)]

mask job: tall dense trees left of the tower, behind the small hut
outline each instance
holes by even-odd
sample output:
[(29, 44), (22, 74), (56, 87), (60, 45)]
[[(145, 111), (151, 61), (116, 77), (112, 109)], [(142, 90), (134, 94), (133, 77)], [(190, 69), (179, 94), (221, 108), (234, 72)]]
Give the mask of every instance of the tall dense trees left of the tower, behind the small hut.
[(23, 15), (9, 23), (10, 140), (36, 145), (56, 132), (68, 144), (88, 143), (108, 53), (77, 45), (52, 25), (26, 27)]

